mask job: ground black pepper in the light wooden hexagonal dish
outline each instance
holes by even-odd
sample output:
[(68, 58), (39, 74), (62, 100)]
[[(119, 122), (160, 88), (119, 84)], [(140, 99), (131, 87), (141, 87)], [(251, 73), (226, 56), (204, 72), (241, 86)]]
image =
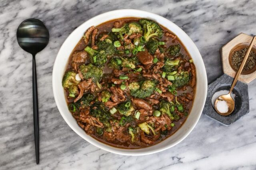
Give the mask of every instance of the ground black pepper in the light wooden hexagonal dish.
[[(239, 66), (242, 63), (242, 60), (244, 59), (244, 55), (246, 54), (248, 48), (241, 48), (238, 51), (235, 51), (232, 55), (232, 65), (234, 65), (234, 68), (238, 70)], [(256, 64), (256, 53), (251, 50), (248, 59), (244, 65), (244, 71), (252, 69)]]

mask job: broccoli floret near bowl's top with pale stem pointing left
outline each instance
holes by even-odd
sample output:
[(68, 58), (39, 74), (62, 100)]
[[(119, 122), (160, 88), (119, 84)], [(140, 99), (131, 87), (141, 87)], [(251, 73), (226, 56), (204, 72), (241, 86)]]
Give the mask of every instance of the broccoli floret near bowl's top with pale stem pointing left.
[(112, 32), (118, 32), (121, 35), (131, 35), (133, 33), (142, 34), (142, 28), (138, 22), (130, 22), (129, 24), (124, 24), (121, 28), (112, 28)]

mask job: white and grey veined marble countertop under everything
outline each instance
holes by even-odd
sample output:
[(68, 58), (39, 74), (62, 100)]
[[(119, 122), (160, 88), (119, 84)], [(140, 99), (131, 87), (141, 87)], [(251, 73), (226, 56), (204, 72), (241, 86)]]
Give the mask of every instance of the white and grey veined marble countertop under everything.
[[(121, 156), (78, 136), (62, 119), (52, 94), (52, 66), (67, 36), (89, 18), (136, 8), (159, 14), (196, 43), (208, 81), (222, 74), (220, 47), (240, 32), (256, 34), (255, 0), (114, 1), (3, 0), (0, 3), (0, 169), (256, 169), (256, 80), (249, 84), (250, 113), (229, 127), (202, 115), (180, 144), (148, 156)], [(36, 165), (32, 111), (32, 57), (16, 41), (16, 29), (38, 18), (50, 42), (38, 53), (40, 165)]]

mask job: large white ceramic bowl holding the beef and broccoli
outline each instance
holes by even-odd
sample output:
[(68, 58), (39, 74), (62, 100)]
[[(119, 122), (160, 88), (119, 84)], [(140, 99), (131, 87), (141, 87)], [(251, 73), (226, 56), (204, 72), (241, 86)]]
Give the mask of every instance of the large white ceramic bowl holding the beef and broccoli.
[[(90, 26), (97, 26), (103, 22), (108, 20), (123, 18), (123, 17), (140, 17), (140, 18), (148, 18), (155, 20), (162, 26), (165, 26), (170, 31), (172, 31), (181, 42), (184, 44), (188, 52), (190, 53), (194, 64), (196, 66), (196, 95), (194, 98), (194, 105), (192, 107), (192, 111), (188, 116), (186, 122), (180, 127), (177, 132), (175, 132), (172, 136), (165, 139), (164, 141), (150, 146), (148, 148), (141, 149), (122, 149), (115, 148), (99, 142), (98, 140), (92, 138), (87, 135), (82, 128), (78, 126), (76, 120), (72, 117), (71, 113), (68, 111), (68, 107), (65, 101), (64, 90), (62, 87), (62, 77), (65, 72), (66, 63), (68, 62), (68, 57), (80, 38), (82, 38), (84, 32)], [(204, 67), (204, 62), (202, 57), (196, 47), (196, 45), (192, 42), (192, 40), (188, 37), (188, 35), (182, 31), (178, 26), (174, 23), (170, 22), (166, 18), (162, 16), (152, 14), (150, 12), (140, 11), (140, 10), (114, 10), (110, 12), (106, 12), (104, 14), (100, 14), (91, 18), (90, 20), (84, 22), (80, 25), (76, 30), (74, 30), (70, 36), (66, 39), (66, 41), (60, 47), (60, 51), (56, 57), (53, 71), (52, 71), (52, 87), (54, 98), (57, 104), (57, 107), (62, 115), (63, 119), (66, 123), (74, 130), (79, 136), (84, 138), (86, 141), (90, 142), (94, 146), (98, 148), (104, 149), (106, 151), (122, 154), (122, 155), (146, 155), (152, 154), (156, 152), (160, 152), (162, 150), (171, 148), (172, 146), (181, 142), (188, 134), (192, 131), (192, 129), (196, 126), (198, 119), (201, 116), (202, 110), (204, 108), (204, 103), (206, 100), (207, 93), (207, 77), (206, 77), (206, 69)]]

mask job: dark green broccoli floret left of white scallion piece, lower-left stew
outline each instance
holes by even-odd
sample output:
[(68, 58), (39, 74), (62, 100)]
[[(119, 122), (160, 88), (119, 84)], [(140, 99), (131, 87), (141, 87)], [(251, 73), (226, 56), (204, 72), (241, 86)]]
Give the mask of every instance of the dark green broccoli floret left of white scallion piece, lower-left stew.
[(110, 117), (110, 113), (106, 109), (103, 103), (101, 102), (95, 102), (91, 107), (90, 107), (90, 115), (93, 117), (96, 117), (100, 122), (107, 123)]

